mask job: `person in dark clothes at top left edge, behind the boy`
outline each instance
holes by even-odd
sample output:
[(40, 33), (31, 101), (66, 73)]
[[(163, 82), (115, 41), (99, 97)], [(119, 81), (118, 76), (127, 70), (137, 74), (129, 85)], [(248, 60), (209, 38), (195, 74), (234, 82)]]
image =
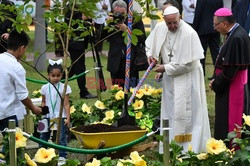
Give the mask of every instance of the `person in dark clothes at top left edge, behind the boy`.
[(14, 3), (9, 0), (2, 0), (0, 2), (0, 10), (4, 13), (4, 19), (0, 19), (0, 53), (7, 51), (7, 40), (9, 32), (12, 29), (12, 21), (8, 18), (16, 19), (15, 12), (4, 9), (4, 6), (14, 6)]

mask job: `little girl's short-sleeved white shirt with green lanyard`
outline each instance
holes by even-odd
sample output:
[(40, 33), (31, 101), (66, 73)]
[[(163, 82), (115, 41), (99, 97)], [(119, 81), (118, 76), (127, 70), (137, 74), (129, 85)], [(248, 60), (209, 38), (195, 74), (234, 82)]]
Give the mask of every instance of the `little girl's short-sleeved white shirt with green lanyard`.
[[(56, 88), (58, 88), (60, 94), (62, 95), (64, 84), (59, 82), (59, 84), (57, 83), (55, 84), (55, 86)], [(65, 95), (68, 95), (71, 92), (72, 92), (71, 88), (68, 85)], [(55, 90), (54, 86), (51, 85), (50, 83), (43, 85), (41, 88), (41, 94), (45, 96), (46, 106), (49, 107), (49, 114), (46, 115), (46, 118), (58, 118), (61, 105), (61, 98), (58, 95), (57, 91)], [(52, 107), (52, 105), (54, 108)], [(66, 112), (64, 108), (62, 117), (66, 118)]]

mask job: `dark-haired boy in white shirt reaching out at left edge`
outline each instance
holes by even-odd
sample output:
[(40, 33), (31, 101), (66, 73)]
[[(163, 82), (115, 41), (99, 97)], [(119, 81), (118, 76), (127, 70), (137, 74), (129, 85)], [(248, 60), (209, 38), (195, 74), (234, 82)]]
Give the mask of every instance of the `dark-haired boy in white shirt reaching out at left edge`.
[(20, 110), (20, 104), (24, 104), (35, 114), (42, 112), (28, 96), (26, 72), (18, 62), (24, 55), (28, 42), (29, 37), (25, 32), (13, 30), (9, 34), (7, 52), (0, 54), (0, 130), (8, 127), (10, 119), (14, 119), (17, 125), (16, 111)]

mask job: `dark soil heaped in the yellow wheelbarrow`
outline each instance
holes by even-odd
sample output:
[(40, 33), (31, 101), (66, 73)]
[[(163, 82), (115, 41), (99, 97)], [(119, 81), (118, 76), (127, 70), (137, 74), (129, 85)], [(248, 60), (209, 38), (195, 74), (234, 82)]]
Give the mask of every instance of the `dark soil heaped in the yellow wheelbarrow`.
[(121, 127), (110, 126), (105, 124), (92, 124), (88, 126), (77, 126), (74, 128), (75, 131), (82, 133), (99, 133), (99, 132), (115, 132), (115, 131), (133, 131), (133, 130), (141, 130), (138, 126), (130, 126), (125, 125)]

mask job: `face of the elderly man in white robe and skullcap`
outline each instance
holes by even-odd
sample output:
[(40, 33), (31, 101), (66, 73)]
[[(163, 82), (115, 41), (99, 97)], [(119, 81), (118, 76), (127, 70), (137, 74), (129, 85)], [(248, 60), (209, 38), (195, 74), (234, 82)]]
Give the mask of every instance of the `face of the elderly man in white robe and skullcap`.
[(179, 14), (170, 14), (164, 16), (164, 20), (170, 32), (176, 32), (179, 27), (180, 16)]

